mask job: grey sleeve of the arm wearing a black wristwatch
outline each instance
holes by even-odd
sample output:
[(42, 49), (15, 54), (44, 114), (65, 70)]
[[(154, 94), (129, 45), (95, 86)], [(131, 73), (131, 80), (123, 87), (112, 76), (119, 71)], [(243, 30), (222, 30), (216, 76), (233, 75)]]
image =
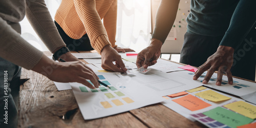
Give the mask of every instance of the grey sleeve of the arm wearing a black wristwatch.
[(40, 39), (50, 52), (66, 46), (54, 25), (44, 0), (27, 0), (26, 16)]

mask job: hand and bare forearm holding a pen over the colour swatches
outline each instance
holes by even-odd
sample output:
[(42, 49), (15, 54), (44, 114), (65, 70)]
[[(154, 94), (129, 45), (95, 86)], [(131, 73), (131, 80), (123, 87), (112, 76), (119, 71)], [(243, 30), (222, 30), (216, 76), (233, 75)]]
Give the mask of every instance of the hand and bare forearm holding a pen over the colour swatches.
[[(91, 89), (100, 85), (98, 76), (81, 61), (55, 62), (43, 55), (32, 70), (56, 82), (79, 82)], [(87, 79), (91, 80), (94, 86)]]

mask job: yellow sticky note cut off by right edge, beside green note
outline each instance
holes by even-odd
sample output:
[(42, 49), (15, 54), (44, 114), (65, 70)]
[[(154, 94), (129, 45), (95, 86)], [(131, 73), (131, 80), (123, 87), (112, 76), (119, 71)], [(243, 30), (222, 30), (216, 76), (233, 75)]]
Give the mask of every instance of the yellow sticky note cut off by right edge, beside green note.
[(256, 106), (255, 105), (251, 105), (244, 101), (237, 101), (237, 102), (226, 104), (224, 106), (234, 112), (237, 112), (237, 113), (244, 115), (246, 117), (249, 117), (251, 119), (256, 118)]

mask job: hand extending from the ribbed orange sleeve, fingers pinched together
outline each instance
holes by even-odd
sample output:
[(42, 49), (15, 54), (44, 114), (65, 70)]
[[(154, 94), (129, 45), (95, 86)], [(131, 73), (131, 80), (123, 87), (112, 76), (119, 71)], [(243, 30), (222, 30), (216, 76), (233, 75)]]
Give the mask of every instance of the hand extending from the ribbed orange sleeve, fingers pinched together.
[[(114, 65), (113, 61), (116, 62)], [(121, 56), (110, 45), (101, 50), (101, 67), (105, 70), (124, 73), (127, 71)]]

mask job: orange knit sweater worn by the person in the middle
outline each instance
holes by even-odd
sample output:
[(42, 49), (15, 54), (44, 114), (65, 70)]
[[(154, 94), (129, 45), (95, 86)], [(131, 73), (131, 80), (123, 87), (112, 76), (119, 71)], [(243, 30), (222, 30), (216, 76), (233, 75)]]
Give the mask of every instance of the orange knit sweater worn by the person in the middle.
[(98, 53), (106, 45), (116, 47), (116, 20), (117, 0), (62, 0), (55, 15), (55, 21), (71, 38), (87, 33)]

